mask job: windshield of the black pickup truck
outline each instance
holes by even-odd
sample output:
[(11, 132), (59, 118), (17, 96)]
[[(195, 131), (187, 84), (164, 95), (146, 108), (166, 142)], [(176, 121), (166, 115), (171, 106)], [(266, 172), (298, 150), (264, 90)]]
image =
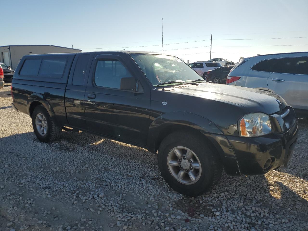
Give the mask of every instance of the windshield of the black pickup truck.
[(134, 54), (131, 56), (154, 86), (170, 81), (178, 81), (170, 84), (183, 84), (201, 79), (197, 72), (182, 60), (173, 56), (150, 54)]

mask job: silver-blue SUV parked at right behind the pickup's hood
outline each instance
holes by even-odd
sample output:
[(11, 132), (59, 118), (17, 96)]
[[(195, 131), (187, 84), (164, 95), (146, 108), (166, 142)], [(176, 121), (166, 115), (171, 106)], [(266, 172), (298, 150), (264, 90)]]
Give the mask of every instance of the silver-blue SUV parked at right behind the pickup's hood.
[(308, 52), (244, 58), (230, 72), (227, 84), (281, 95), (299, 118), (308, 118)]

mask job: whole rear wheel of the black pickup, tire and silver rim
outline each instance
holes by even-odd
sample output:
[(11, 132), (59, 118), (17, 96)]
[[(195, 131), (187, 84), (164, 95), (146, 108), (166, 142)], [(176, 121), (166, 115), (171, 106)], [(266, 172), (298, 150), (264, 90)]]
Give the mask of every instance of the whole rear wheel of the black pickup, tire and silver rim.
[(61, 128), (55, 124), (43, 105), (34, 108), (32, 126), (36, 137), (44, 143), (51, 143), (60, 136)]

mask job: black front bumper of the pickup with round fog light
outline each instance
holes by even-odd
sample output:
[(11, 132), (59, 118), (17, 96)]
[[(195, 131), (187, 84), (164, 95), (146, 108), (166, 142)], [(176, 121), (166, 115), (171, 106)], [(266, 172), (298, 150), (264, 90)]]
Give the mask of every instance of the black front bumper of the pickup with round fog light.
[(298, 123), (284, 133), (260, 137), (227, 136), (241, 174), (264, 174), (286, 165), (298, 138)]

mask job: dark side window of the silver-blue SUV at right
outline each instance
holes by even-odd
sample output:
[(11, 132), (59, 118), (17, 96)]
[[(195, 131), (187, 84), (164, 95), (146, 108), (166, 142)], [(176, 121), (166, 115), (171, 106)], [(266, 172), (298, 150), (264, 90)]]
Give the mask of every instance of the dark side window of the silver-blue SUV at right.
[(254, 65), (252, 70), (308, 75), (308, 57), (269, 59)]

